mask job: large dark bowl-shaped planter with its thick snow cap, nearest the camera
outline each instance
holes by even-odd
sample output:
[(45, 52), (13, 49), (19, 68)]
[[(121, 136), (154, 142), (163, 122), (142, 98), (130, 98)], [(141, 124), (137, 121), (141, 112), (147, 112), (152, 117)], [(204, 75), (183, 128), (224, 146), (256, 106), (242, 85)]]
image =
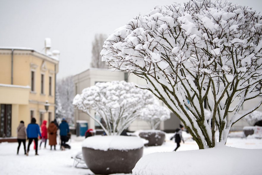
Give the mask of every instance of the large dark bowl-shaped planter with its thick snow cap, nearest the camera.
[[(140, 143), (134, 145), (136, 141)], [(82, 144), (84, 161), (94, 174), (131, 173), (143, 154), (143, 143), (137, 137), (92, 136), (86, 138), (84, 142)]]

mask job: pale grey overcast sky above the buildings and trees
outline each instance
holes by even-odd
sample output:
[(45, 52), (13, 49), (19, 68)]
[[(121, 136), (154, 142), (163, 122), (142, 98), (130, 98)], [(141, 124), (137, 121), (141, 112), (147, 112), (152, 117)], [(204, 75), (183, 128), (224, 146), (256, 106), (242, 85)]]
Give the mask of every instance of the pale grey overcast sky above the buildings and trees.
[[(177, 0), (184, 2), (187, 0)], [(0, 47), (26, 47), (44, 52), (59, 50), (57, 78), (76, 75), (90, 67), (95, 34), (112, 34), (133, 17), (173, 0), (0, 0)], [(261, 0), (231, 0), (262, 11)]]

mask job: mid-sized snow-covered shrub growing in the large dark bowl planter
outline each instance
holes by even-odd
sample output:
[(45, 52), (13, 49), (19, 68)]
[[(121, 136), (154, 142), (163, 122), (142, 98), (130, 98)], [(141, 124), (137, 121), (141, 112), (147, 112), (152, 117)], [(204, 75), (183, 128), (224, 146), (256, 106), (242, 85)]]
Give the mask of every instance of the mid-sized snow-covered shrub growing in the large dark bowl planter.
[[(150, 91), (139, 89), (134, 83), (112, 81), (84, 89), (75, 96), (73, 105), (98, 122), (106, 135), (120, 135), (154, 100)], [(92, 116), (90, 110), (94, 110), (105, 125)]]

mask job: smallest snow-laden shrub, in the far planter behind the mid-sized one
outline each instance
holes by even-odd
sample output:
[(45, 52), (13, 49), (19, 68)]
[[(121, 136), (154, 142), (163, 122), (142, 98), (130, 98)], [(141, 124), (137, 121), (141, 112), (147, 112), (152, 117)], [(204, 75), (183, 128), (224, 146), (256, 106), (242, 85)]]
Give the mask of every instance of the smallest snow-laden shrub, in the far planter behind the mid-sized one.
[(164, 106), (160, 106), (156, 101), (152, 105), (147, 105), (142, 109), (139, 119), (148, 122), (152, 130), (155, 130), (162, 121), (170, 119), (170, 111)]

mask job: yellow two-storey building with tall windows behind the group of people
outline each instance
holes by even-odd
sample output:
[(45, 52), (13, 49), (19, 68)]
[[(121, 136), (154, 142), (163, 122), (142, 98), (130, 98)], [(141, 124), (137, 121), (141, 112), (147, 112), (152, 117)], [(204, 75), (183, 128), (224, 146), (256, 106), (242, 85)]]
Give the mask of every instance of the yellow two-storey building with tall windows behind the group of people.
[(54, 120), (59, 52), (46, 53), (0, 48), (0, 138), (16, 137), (21, 120), (25, 126), (32, 117), (39, 125)]

